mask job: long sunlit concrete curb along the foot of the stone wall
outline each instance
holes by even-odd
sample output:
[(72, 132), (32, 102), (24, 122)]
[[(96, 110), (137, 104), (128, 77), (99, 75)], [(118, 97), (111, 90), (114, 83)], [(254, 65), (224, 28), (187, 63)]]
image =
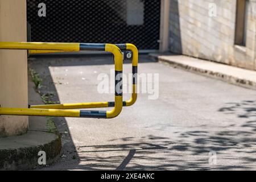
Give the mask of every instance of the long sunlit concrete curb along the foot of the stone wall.
[[(230, 84), (242, 86), (244, 88), (256, 90), (256, 72), (249, 71), (247, 69), (236, 68), (230, 65), (224, 65), (220, 63), (213, 63), (207, 60), (195, 59), (193, 57), (181, 56), (181, 55), (168, 55), (159, 56), (151, 55), (152, 57), (157, 57), (159, 61), (170, 64), (172, 67), (181, 68), (189, 72), (198, 73), (200, 75), (217, 78)], [(175, 57), (176, 56), (176, 57)], [(186, 60), (187, 59), (187, 60)], [(180, 61), (183, 60), (183, 61)], [(186, 61), (184, 61), (186, 60)], [(195, 62), (198, 61), (197, 65)], [(191, 64), (193, 63), (193, 64)], [(203, 67), (200, 65), (204, 64)], [(229, 72), (226, 72), (229, 70)], [(233, 70), (233, 73), (232, 71)], [(255, 75), (255, 79), (253, 78)]]

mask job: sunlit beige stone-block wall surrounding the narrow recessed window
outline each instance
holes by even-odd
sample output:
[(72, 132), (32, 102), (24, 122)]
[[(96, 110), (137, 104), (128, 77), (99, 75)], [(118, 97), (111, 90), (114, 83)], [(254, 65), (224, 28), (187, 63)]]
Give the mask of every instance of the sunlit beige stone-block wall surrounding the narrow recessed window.
[[(248, 0), (246, 47), (234, 45), (236, 0), (171, 0), (170, 49), (201, 59), (256, 70), (256, 0)], [(217, 16), (209, 16), (209, 4)]]

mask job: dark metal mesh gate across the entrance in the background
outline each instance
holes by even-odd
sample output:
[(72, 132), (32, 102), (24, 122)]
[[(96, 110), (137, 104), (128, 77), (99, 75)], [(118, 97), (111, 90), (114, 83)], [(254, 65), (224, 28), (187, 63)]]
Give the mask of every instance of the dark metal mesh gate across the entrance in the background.
[[(46, 16), (39, 17), (39, 3)], [(159, 48), (160, 0), (27, 0), (32, 42), (134, 43)]]

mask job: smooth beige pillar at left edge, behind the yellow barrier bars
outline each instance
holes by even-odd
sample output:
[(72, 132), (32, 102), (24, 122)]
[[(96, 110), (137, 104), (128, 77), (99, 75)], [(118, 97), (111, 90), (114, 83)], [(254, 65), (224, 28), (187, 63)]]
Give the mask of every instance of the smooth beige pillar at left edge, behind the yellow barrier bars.
[[(0, 42), (26, 42), (26, 0), (0, 0)], [(0, 50), (0, 105), (27, 107), (27, 51)], [(0, 137), (27, 132), (28, 117), (0, 116)]]

